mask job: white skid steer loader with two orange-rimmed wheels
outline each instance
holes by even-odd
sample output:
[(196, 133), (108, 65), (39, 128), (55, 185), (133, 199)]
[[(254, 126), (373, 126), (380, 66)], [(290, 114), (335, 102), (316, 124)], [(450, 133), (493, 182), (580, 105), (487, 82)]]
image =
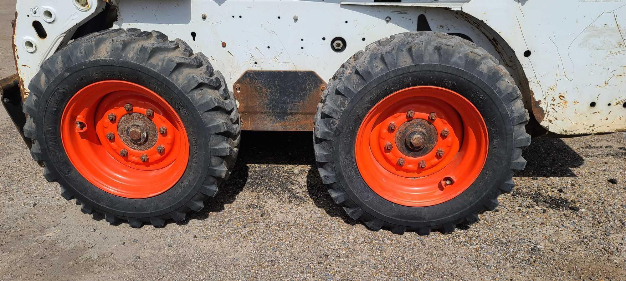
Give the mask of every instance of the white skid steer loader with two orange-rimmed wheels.
[(185, 220), (241, 130), (312, 131), (372, 230), (498, 206), (531, 136), (626, 131), (626, 6), (538, 0), (18, 0), (3, 104), (86, 214)]

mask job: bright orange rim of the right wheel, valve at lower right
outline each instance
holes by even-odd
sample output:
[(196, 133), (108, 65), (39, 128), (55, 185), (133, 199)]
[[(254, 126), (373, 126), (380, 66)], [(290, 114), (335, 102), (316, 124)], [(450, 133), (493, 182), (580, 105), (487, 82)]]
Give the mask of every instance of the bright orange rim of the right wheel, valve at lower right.
[(489, 148), (478, 109), (449, 89), (417, 86), (385, 97), (359, 127), (355, 158), (366, 184), (399, 205), (453, 199), (478, 178)]

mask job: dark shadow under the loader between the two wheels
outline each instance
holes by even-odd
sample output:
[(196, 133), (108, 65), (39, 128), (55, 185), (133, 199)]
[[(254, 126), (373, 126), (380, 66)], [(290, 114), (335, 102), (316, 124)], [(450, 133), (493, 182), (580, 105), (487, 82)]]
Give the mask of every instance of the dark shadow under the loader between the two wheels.
[[(264, 132), (244, 131), (239, 150), (239, 157), (230, 178), (219, 190), (217, 197), (208, 202), (208, 206), (193, 214), (190, 218), (207, 219), (210, 212), (221, 212), (225, 204), (231, 204), (237, 195), (244, 190), (247, 183), (258, 181), (249, 177), (249, 164), (259, 165), (310, 165), (307, 172), (307, 192), (314, 204), (326, 211), (332, 217), (341, 217), (348, 224), (357, 224), (356, 220), (347, 216), (346, 212), (332, 202), (326, 187), (315, 169), (315, 159), (311, 132)], [(272, 177), (272, 173), (280, 172), (279, 169), (267, 169), (265, 171)], [(279, 176), (276, 175), (275, 178)], [(269, 185), (269, 184), (266, 184)], [(272, 188), (270, 185), (268, 188)], [(279, 187), (275, 187), (280, 189)], [(267, 192), (274, 193), (271, 190)], [(277, 196), (289, 196), (289, 190), (276, 190)], [(295, 200), (295, 199), (294, 199)], [(185, 220), (187, 222), (188, 220)]]

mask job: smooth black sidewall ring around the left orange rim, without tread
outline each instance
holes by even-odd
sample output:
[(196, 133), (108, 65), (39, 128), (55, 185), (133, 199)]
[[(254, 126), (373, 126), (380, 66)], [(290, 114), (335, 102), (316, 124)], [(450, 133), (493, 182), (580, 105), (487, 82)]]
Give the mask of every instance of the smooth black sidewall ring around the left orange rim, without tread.
[[(47, 74), (47, 73), (46, 73)], [(177, 184), (160, 195), (146, 199), (116, 196), (91, 184), (69, 161), (61, 140), (61, 116), (69, 99), (85, 86), (105, 80), (134, 82), (159, 94), (172, 106), (183, 122), (189, 141), (189, 159)], [(96, 209), (121, 217), (157, 217), (177, 210), (197, 194), (210, 166), (209, 136), (202, 117), (192, 101), (168, 77), (132, 61), (122, 59), (95, 59), (80, 62), (63, 69), (54, 77), (39, 97), (39, 112), (43, 118), (36, 124), (39, 144), (52, 163), (48, 169), (60, 176), (59, 184), (70, 189), (77, 200)], [(43, 131), (41, 131), (43, 128)]]

